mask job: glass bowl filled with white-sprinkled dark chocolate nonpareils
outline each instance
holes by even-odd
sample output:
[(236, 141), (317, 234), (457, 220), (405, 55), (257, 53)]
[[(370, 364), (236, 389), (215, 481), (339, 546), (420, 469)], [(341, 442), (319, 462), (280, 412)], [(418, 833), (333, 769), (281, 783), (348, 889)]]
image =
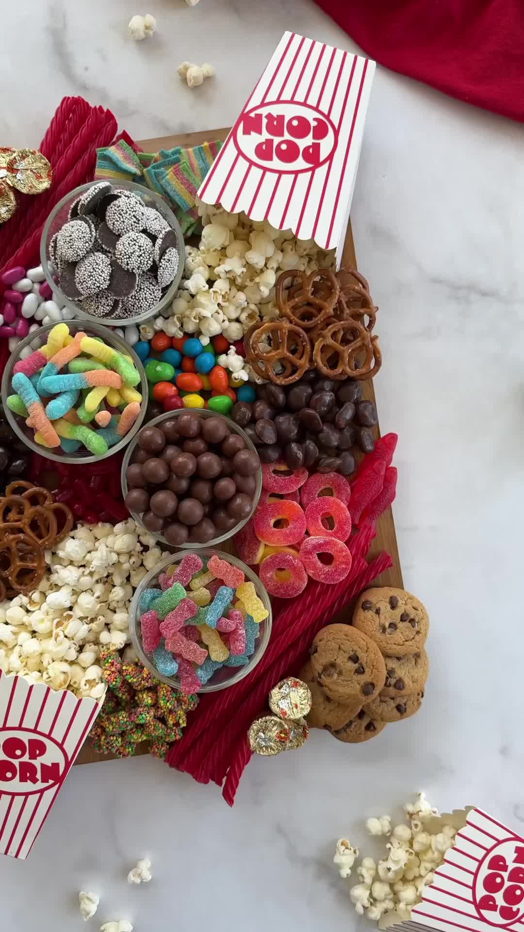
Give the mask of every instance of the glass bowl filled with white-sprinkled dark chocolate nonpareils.
[(53, 292), (78, 317), (125, 326), (171, 304), (184, 271), (184, 237), (154, 191), (95, 181), (49, 213), (40, 261)]

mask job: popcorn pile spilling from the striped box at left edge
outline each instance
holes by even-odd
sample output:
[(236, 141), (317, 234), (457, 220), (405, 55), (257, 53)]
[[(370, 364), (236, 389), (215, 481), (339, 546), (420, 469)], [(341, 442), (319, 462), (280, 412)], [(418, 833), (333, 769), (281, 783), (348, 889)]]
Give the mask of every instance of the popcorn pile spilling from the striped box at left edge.
[(130, 644), (131, 598), (159, 561), (155, 542), (130, 518), (80, 525), (46, 551), (34, 592), (0, 604), (0, 669), (101, 700), (100, 652)]

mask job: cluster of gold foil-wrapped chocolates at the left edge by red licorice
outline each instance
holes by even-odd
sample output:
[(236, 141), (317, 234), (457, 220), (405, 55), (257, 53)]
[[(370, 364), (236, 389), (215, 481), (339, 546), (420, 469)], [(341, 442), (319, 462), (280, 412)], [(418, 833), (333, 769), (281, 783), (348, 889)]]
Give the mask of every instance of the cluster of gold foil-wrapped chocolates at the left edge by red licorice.
[(18, 207), (14, 189), (21, 194), (41, 194), (53, 180), (48, 159), (36, 149), (0, 147), (0, 224)]

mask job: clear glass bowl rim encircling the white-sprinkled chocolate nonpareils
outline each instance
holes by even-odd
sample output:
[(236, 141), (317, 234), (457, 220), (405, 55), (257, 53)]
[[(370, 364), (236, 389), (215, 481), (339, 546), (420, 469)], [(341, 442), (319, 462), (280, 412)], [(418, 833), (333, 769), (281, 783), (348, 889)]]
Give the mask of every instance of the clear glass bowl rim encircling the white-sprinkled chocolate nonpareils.
[[(113, 186), (115, 188), (125, 188), (128, 191), (132, 191), (133, 194), (139, 195), (139, 197), (144, 201), (145, 207), (154, 207), (159, 213), (161, 213), (164, 220), (168, 222), (171, 228), (176, 233), (176, 248), (178, 250), (179, 262), (176, 275), (169, 286), (165, 295), (162, 295), (159, 303), (155, 305), (151, 310), (146, 310), (142, 314), (136, 314), (134, 317), (126, 318), (110, 318), (110, 317), (95, 317), (93, 314), (88, 313), (84, 310), (81, 305), (77, 304), (76, 301), (73, 301), (71, 298), (66, 297), (60, 285), (53, 279), (53, 275), (56, 274), (56, 269), (49, 258), (48, 249), (49, 242), (54, 236), (55, 233), (58, 233), (59, 229), (67, 222), (69, 218), (69, 210), (71, 205), (76, 198), (80, 197), (84, 191), (88, 191), (93, 185), (100, 184), (101, 181), (105, 179), (98, 178), (97, 181), (89, 182), (87, 185), (80, 185), (76, 187), (74, 191), (70, 191), (69, 194), (66, 194), (62, 200), (56, 204), (53, 210), (49, 213), (48, 219), (42, 230), (42, 238), (40, 240), (40, 262), (48, 285), (53, 290), (55, 295), (58, 295), (62, 301), (62, 305), (65, 305), (69, 310), (74, 311), (78, 317), (84, 321), (91, 321), (93, 323), (101, 324), (102, 326), (115, 326), (115, 327), (125, 327), (131, 323), (142, 323), (147, 321), (150, 317), (157, 316), (163, 308), (167, 308), (171, 304), (172, 299), (178, 288), (178, 283), (182, 278), (184, 272), (184, 263), (185, 263), (185, 249), (184, 249), (184, 237), (182, 235), (182, 230), (180, 224), (176, 219), (172, 210), (168, 207), (166, 201), (163, 198), (160, 198), (159, 194), (156, 194), (154, 191), (150, 191), (149, 188), (142, 187), (142, 185), (133, 185), (129, 181), (119, 181)], [(109, 179), (107, 179), (109, 180)], [(113, 183), (111, 183), (113, 184)]]

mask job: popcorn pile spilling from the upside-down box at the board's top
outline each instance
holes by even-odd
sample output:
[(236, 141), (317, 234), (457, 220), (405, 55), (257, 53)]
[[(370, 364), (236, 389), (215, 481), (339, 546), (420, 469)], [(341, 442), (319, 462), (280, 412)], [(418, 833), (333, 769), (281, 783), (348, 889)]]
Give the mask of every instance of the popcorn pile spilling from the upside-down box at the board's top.
[[(180, 67), (186, 66), (188, 62)], [(254, 323), (279, 316), (275, 281), (280, 272), (298, 268), (309, 274), (335, 264), (334, 251), (326, 253), (313, 240), (297, 240), (291, 230), (277, 230), (267, 220), (251, 221), (245, 213), (228, 213), (199, 199), (197, 205), (203, 226), (199, 248), (186, 246), (185, 277), (172, 306), (153, 325), (140, 327), (143, 340), (162, 330), (175, 337), (223, 334), (234, 343)], [(218, 364), (258, 380), (241, 356), (235, 358), (234, 348), (225, 355), (230, 363)]]

